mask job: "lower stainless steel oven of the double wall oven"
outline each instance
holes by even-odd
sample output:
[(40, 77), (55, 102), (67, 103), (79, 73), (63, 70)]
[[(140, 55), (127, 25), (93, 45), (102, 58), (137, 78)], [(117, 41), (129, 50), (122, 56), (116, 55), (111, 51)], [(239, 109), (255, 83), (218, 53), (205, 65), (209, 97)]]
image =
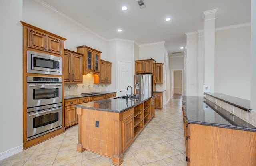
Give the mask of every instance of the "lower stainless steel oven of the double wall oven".
[(27, 140), (62, 128), (62, 103), (27, 109)]

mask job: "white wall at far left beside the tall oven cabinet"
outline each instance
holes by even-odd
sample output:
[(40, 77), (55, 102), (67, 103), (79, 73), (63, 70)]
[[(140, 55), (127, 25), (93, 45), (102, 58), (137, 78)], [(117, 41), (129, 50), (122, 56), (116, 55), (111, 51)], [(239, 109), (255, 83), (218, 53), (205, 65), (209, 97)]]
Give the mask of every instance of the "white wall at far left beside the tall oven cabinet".
[(23, 150), (22, 146), (22, 0), (0, 5), (0, 160)]

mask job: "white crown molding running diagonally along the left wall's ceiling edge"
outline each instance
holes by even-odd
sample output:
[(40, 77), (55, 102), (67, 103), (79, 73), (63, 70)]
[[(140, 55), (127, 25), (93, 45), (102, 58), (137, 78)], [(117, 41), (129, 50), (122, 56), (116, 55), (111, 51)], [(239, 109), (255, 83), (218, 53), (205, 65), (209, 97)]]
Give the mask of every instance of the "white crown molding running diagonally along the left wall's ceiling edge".
[(72, 23), (76, 24), (77, 26), (79, 26), (80, 28), (82, 28), (82, 29), (84, 29), (84, 30), (90, 32), (91, 34), (97, 36), (98, 38), (100, 38), (100, 39), (102, 39), (102, 40), (104, 40), (104, 41), (107, 41), (107, 40), (106, 40), (105, 38), (103, 38), (102, 36), (96, 34), (94, 31), (92, 31), (92, 30), (90, 30), (89, 28), (87, 28), (86, 26), (80, 24), (80, 23), (77, 22), (76, 20), (70, 18), (70, 17), (67, 16), (66, 14), (60, 12), (60, 11), (57, 10), (56, 8), (50, 6), (50, 5), (47, 4), (46, 2), (44, 2), (44, 1), (42, 1), (42, 0), (34, 0), (34, 1), (37, 2), (38, 4), (42, 5), (42, 6), (46, 7), (47, 9), (52, 10), (54, 13), (56, 13), (56, 14), (62, 16), (63, 18), (66, 18), (66, 19), (69, 20), (70, 22), (72, 22)]

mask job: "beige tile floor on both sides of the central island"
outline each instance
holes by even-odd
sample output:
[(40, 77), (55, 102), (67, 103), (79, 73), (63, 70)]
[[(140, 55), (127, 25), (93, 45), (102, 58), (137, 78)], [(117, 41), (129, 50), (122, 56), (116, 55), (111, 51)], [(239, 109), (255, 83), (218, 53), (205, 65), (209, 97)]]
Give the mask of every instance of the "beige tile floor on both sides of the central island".
[[(186, 166), (182, 100), (170, 99), (123, 155), (121, 166)], [(76, 152), (78, 125), (0, 161), (0, 166), (113, 166), (112, 159)]]

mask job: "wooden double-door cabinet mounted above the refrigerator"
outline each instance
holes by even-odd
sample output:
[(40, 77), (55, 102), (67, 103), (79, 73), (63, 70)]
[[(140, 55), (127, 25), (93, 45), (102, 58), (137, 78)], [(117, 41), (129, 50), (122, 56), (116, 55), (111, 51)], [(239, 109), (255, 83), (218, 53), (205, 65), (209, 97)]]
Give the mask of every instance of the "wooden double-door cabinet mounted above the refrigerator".
[(136, 74), (153, 73), (154, 63), (156, 63), (154, 59), (135, 61), (135, 73)]

